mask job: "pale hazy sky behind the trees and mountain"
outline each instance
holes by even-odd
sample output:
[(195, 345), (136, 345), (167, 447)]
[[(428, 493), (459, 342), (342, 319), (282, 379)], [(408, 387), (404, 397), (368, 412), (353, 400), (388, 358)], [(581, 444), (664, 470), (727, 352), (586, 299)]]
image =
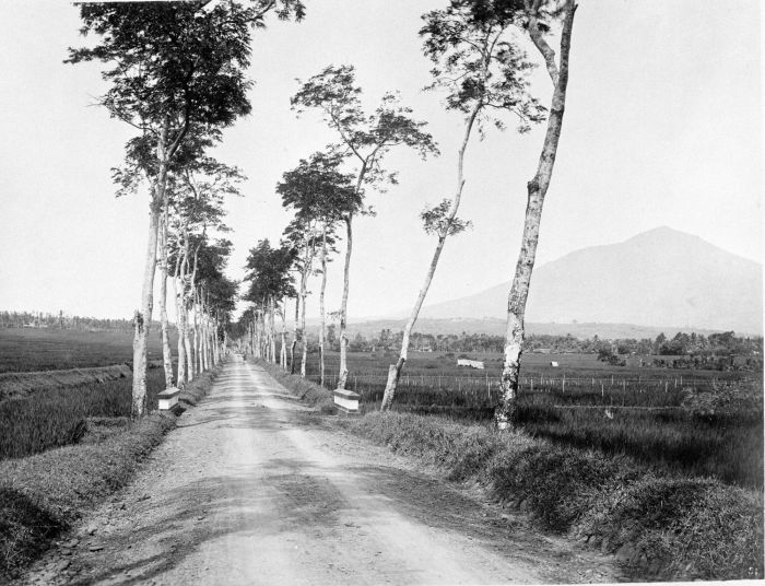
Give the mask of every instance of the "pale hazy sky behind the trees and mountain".
[[(228, 272), (243, 276), (258, 239), (279, 241), (289, 221), (274, 195), (281, 174), (334, 140), (318, 116), (291, 112), (295, 79), (353, 63), (368, 107), (399, 90), (442, 150), (426, 162), (393, 153), (388, 165), (400, 185), (370, 194), (377, 216), (355, 224), (349, 313), (405, 309), (435, 244), (417, 215), (454, 191), (462, 131), (443, 95), (422, 91), (431, 63), (420, 15), (447, 0), (306, 3), (303, 23), (272, 20), (256, 33), (254, 110), (216, 153), (249, 177), (246, 196), (228, 203)], [(659, 225), (761, 260), (758, 4), (580, 1), (539, 263)], [(62, 63), (67, 47), (81, 43), (75, 8), (60, 0), (0, 0), (0, 308), (128, 317), (140, 301), (148, 196), (115, 199), (109, 168), (122, 159), (129, 128), (92, 106), (104, 91), (97, 66)], [(550, 81), (541, 70), (534, 79), (546, 104)], [(509, 122), (469, 146), (460, 216), (474, 227), (447, 241), (428, 302), (511, 277), (542, 129), (521, 137)], [(330, 310), (339, 305), (339, 260), (330, 268)]]

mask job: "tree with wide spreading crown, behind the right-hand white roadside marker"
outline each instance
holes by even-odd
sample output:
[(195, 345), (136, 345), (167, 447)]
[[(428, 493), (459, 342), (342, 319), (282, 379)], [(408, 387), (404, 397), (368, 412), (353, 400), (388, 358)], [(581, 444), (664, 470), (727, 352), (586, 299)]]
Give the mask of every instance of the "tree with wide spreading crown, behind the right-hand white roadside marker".
[[(398, 96), (387, 93), (373, 114), (365, 114), (355, 84), (353, 66), (329, 66), (302, 84), (292, 98), (298, 113), (317, 108), (325, 122), (338, 132), (340, 143), (333, 151), (355, 161), (355, 191), (363, 200), (365, 188), (380, 190), (386, 183), (396, 183), (396, 173), (382, 166), (386, 155), (395, 146), (414, 149), (422, 157), (437, 153), (433, 137), (423, 131), (425, 122), (412, 119), (411, 108), (401, 106)], [(345, 262), (343, 267), (343, 293), (340, 304), (340, 373), (338, 388), (345, 388), (348, 380), (348, 297), (353, 250), (353, 219), (356, 212), (346, 213)]]

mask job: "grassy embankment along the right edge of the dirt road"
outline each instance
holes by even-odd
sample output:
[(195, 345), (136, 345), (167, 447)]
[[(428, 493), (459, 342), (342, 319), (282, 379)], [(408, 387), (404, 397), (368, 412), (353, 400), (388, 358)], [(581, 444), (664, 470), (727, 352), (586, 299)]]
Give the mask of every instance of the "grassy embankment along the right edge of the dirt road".
[[(284, 386), (328, 411), (330, 392), (264, 365)], [(478, 482), (540, 527), (615, 553), (632, 579), (763, 577), (763, 495), (678, 469), (520, 431), (412, 413), (369, 412), (340, 424)]]

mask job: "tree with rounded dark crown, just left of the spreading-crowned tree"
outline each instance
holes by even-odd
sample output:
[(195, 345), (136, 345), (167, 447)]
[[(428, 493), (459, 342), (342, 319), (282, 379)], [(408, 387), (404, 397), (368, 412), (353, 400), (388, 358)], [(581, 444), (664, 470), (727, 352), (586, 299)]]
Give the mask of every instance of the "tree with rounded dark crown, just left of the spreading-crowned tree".
[[(321, 286), (319, 290), (319, 372), (320, 384), (325, 380), (325, 332), (326, 310), (325, 291), (327, 288), (328, 256), (334, 251), (334, 231), (337, 224), (348, 214), (362, 209), (362, 197), (353, 186), (353, 176), (340, 171), (342, 156), (327, 153), (314, 153), (308, 160), (301, 160), (297, 167), (284, 173), (282, 181), (276, 185), (276, 192), (282, 196), (282, 204), (295, 211), (295, 222), (291, 224), (292, 241), (299, 244), (307, 253), (318, 249), (321, 268)], [(310, 234), (296, 233), (310, 231)], [(304, 241), (305, 242), (302, 242)], [(305, 256), (303, 266), (310, 269), (313, 256)], [(310, 262), (305, 262), (310, 260)], [(307, 279), (308, 273), (305, 273)], [(302, 279), (303, 283), (303, 279)], [(303, 335), (304, 352), (301, 372), (305, 376), (306, 343), (305, 343), (305, 288), (301, 288), (303, 303)]]

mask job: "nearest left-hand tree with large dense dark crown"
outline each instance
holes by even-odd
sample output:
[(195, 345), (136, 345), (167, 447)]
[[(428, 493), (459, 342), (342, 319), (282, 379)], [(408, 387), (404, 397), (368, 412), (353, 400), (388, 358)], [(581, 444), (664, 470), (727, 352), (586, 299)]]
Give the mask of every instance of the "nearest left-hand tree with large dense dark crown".
[[(160, 219), (166, 204), (168, 167), (189, 129), (229, 126), (250, 112), (244, 71), (249, 65), (250, 28), (264, 14), (301, 17), (299, 0), (256, 0), (248, 5), (219, 3), (200, 11), (197, 2), (83, 3), (83, 35), (91, 47), (70, 49), (68, 62), (98, 60), (109, 89), (99, 103), (139, 131), (128, 157), (150, 183), (149, 237), (141, 295), (134, 315), (132, 413), (145, 411), (146, 337), (153, 308), (153, 282)], [(144, 148), (137, 149), (140, 143)], [(146, 149), (145, 146), (150, 146)]]

